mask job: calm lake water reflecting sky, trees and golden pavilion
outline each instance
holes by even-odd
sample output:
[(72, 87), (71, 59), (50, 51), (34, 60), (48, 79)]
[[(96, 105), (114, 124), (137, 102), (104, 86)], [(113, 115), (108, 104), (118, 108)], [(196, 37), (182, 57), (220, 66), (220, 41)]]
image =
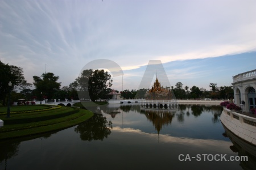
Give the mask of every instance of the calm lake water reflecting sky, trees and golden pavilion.
[[(220, 122), (221, 107), (180, 105), (169, 113), (141, 111), (135, 104), (90, 109), (101, 114), (55, 133), (0, 142), (0, 169), (256, 167), (254, 155), (241, 149), (247, 144), (225, 132)], [(107, 114), (109, 111), (114, 112)], [(205, 160), (203, 154), (208, 154)], [(249, 155), (249, 160), (221, 161), (225, 154), (225, 159)]]

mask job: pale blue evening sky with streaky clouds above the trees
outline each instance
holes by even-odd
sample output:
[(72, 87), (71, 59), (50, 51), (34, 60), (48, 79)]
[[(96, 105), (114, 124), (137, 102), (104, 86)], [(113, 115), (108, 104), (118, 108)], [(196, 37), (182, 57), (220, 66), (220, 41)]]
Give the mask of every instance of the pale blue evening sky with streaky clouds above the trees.
[(256, 69), (255, 16), (254, 0), (0, 0), (0, 60), (22, 67), (28, 83), (46, 71), (68, 86), (108, 59), (123, 71), (113, 76), (118, 91), (137, 90), (156, 60), (170, 86), (210, 90)]

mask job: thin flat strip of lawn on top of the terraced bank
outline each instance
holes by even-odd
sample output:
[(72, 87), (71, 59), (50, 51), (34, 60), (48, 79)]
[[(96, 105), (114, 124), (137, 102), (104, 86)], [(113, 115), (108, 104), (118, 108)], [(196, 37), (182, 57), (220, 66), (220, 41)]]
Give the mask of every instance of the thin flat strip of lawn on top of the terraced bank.
[[(47, 105), (15, 105), (10, 107), (11, 112), (19, 112), (19, 111), (33, 111), (33, 110), (40, 110), (40, 109), (47, 109), (49, 106)], [(6, 112), (7, 107), (0, 107), (0, 113)]]

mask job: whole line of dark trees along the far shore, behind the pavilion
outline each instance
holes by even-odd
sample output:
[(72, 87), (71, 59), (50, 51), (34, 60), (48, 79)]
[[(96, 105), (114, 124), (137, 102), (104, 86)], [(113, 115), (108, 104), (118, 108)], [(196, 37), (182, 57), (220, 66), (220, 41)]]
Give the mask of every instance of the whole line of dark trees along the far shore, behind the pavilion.
[[(74, 82), (62, 88), (59, 76), (53, 73), (43, 73), (40, 76), (34, 75), (33, 80), (33, 83), (27, 83), (21, 67), (8, 65), (0, 61), (0, 103), (6, 105), (9, 90), (11, 90), (12, 101), (17, 101), (18, 99), (79, 100), (80, 98), (84, 99), (84, 97), (78, 94), (86, 91), (89, 93), (89, 98), (93, 101), (100, 98), (111, 99), (112, 97), (108, 94), (112, 91), (113, 80), (108, 71), (104, 70), (84, 70)], [(8, 85), (9, 82), (12, 83), (11, 87)], [(34, 89), (31, 89), (32, 84), (35, 86)], [(217, 87), (216, 83), (210, 83), (209, 87), (211, 88), (210, 91), (196, 86), (191, 88), (185, 86), (183, 88), (183, 83), (177, 82), (175, 87), (171, 87), (171, 90), (174, 91), (176, 99), (199, 99), (204, 97), (230, 99), (234, 96), (232, 86)], [(143, 88), (139, 91), (135, 89), (123, 90), (120, 94), (124, 99), (143, 99), (147, 90), (149, 89)]]

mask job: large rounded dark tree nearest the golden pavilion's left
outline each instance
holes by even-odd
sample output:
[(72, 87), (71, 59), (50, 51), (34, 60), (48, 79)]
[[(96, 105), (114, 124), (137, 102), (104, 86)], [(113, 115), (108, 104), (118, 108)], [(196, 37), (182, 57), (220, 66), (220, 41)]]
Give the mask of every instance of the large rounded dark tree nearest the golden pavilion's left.
[(105, 95), (107, 88), (112, 86), (113, 80), (111, 75), (108, 74), (108, 71), (104, 70), (84, 70), (76, 79), (77, 84), (79, 85), (80, 94), (82, 95), (83, 91), (88, 91), (91, 100), (99, 99), (102, 95)]

